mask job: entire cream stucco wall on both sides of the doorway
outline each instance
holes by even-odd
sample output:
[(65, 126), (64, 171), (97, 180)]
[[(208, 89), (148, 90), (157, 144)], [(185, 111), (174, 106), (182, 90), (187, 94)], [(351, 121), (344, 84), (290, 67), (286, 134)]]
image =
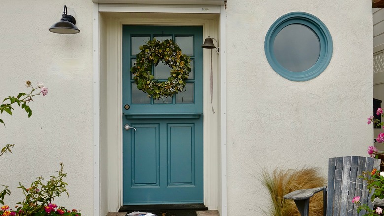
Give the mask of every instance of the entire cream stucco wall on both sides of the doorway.
[[(68, 13), (75, 16), (79, 34), (48, 31), (59, 21), (64, 4)], [(259, 208), (266, 205), (266, 194), (255, 176), (264, 165), (318, 166), (325, 173), (328, 157), (366, 155), (372, 140), (372, 128), (365, 121), (372, 113), (370, 4), (355, 0), (229, 0), (228, 216), (239, 212), (259, 215)], [(317, 16), (333, 38), (329, 66), (307, 82), (282, 78), (272, 70), (264, 54), (268, 28), (292, 11)], [(12, 189), (7, 200), (15, 203), (21, 197), (15, 189), (18, 181), (27, 184), (36, 176), (48, 177), (63, 162), (70, 198), (60, 198), (57, 203), (91, 216), (93, 4), (91, 0), (1, 0), (0, 18), (0, 97), (26, 90), (25, 80), (44, 82), (49, 88), (47, 96), (38, 96), (31, 103), (30, 119), (20, 109), (15, 110), (13, 117), (1, 116), (7, 127), (0, 126), (0, 144), (16, 144), (14, 154), (0, 158), (0, 184)], [(105, 37), (102, 33), (100, 40)], [(100, 51), (105, 49), (102, 44)], [(100, 70), (104, 69), (101, 65)], [(103, 72), (101, 75), (106, 77)], [(100, 86), (106, 88), (105, 80)], [(105, 94), (100, 97), (106, 100)], [(106, 112), (101, 106), (101, 113)], [(101, 116), (101, 123), (105, 121), (105, 116)], [(105, 159), (107, 154), (101, 155)], [(105, 169), (103, 163), (107, 161), (101, 162)], [(104, 201), (106, 184), (101, 179)], [(106, 204), (100, 206), (103, 212)]]

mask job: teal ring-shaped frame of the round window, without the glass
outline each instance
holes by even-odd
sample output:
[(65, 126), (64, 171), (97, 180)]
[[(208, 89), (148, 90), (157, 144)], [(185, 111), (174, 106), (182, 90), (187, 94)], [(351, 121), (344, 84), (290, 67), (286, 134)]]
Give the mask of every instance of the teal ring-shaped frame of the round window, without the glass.
[[(276, 59), (273, 46), (277, 34), (284, 27), (291, 24), (301, 24), (310, 28), (318, 37), (320, 43), (320, 55), (316, 63), (302, 72), (292, 72), (284, 68)], [(291, 12), (281, 16), (269, 28), (265, 36), (265, 55), (273, 70), (282, 77), (291, 81), (308, 81), (319, 76), (329, 65), (332, 58), (332, 36), (325, 24), (316, 16), (305, 12)]]

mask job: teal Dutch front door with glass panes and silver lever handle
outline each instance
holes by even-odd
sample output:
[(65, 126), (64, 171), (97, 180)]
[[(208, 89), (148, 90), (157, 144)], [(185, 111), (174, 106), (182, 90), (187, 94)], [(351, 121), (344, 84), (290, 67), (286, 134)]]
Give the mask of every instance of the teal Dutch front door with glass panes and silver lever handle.
[[(174, 40), (190, 56), (185, 90), (154, 100), (137, 89), (130, 68), (148, 40)], [(123, 26), (123, 204), (203, 203), (202, 27)], [(161, 62), (153, 75), (165, 81)], [(135, 129), (133, 129), (135, 128)]]

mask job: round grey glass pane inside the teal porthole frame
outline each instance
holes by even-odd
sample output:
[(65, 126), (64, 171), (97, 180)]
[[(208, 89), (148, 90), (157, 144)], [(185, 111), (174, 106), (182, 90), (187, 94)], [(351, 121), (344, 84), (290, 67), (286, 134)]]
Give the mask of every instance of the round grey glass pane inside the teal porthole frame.
[(284, 27), (276, 35), (273, 52), (276, 60), (292, 72), (308, 70), (319, 59), (320, 42), (312, 29), (301, 24)]

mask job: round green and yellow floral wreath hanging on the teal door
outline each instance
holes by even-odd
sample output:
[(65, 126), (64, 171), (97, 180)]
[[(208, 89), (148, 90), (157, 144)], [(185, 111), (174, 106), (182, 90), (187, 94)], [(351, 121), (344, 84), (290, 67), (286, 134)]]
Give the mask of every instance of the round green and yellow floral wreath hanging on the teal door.
[[(136, 62), (130, 69), (137, 88), (148, 94), (148, 97), (159, 99), (172, 97), (183, 91), (191, 72), (189, 57), (181, 53), (180, 47), (173, 40), (160, 42), (155, 38), (140, 46)], [(167, 81), (154, 79), (152, 64), (163, 62), (171, 67)]]

